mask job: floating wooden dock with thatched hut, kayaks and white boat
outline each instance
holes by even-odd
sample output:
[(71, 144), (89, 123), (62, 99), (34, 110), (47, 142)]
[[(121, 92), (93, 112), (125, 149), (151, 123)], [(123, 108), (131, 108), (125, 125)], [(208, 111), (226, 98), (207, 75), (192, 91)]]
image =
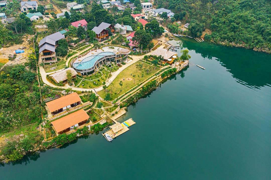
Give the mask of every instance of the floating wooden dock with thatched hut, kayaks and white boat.
[(116, 124), (113, 124), (109, 126), (111, 129), (103, 133), (102, 135), (105, 137), (105, 139), (109, 142), (111, 142), (115, 137), (125, 133), (126, 131), (129, 131), (129, 128), (131, 125), (134, 125), (135, 122), (132, 118), (124, 121), (123, 123), (117, 122)]

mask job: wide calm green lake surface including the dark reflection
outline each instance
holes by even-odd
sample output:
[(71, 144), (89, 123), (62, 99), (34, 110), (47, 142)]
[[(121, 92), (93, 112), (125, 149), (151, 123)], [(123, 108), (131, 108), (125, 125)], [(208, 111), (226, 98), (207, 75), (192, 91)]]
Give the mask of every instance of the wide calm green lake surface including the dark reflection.
[(27, 156), (1, 179), (271, 179), (271, 55), (178, 42), (189, 67), (128, 107), (127, 133)]

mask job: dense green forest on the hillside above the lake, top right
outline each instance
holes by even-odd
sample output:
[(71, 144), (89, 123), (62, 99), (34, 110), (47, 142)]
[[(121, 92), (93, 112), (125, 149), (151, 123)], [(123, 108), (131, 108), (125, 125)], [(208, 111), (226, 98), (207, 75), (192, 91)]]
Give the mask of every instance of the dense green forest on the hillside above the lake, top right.
[(172, 10), (176, 20), (192, 23), (189, 28), (192, 36), (198, 36), (201, 29), (208, 28), (212, 32), (205, 35), (206, 40), (271, 52), (271, 5), (268, 0), (158, 0), (156, 4), (157, 8)]

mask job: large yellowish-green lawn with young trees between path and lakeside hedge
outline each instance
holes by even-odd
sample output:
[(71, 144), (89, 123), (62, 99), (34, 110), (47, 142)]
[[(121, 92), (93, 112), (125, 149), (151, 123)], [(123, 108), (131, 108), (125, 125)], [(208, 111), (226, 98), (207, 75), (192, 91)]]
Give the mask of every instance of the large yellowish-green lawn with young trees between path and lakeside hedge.
[[(116, 79), (108, 86), (107, 92), (105, 90), (99, 91), (98, 94), (105, 98), (107, 93), (110, 93), (110, 100), (116, 99), (118, 96), (121, 96), (126, 91), (132, 89), (137, 86), (137, 84), (146, 80), (148, 77), (152, 76), (154, 73), (159, 71), (160, 69), (156, 67), (154, 70), (154, 66), (143, 62), (136, 62), (131, 66), (124, 69)], [(135, 77), (133, 77), (135, 75)], [(120, 81), (122, 81), (122, 86), (120, 86)]]

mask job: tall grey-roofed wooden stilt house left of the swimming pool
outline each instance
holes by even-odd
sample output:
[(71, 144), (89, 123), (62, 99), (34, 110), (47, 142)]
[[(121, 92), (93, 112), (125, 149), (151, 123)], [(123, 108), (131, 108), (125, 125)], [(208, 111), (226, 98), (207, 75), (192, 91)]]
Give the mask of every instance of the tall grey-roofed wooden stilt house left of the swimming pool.
[(65, 36), (60, 32), (53, 33), (40, 40), (38, 47), (40, 48), (41, 59), (44, 63), (57, 62), (56, 47), (60, 39)]

